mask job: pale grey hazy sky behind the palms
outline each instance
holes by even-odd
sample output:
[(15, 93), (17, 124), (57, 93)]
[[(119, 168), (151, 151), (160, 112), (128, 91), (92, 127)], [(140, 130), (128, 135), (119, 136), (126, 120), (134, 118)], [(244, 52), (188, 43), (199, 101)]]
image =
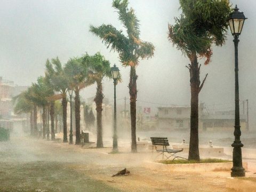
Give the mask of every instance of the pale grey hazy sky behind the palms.
[[(59, 57), (64, 64), (70, 57), (100, 51), (111, 65), (121, 70), (123, 83), (117, 85), (117, 99), (129, 97), (129, 68), (124, 68), (118, 54), (109, 52), (101, 39), (89, 32), (89, 26), (111, 23), (123, 29), (111, 0), (1, 0), (0, 2), (0, 76), (18, 85), (30, 85), (44, 74), (47, 58)], [(240, 100), (249, 99), (250, 128), (256, 129), (256, 66), (255, 23), (256, 1), (233, 0), (246, 20), (239, 37)], [(189, 105), (188, 58), (175, 49), (167, 39), (167, 25), (178, 17), (178, 0), (130, 0), (130, 6), (140, 20), (141, 39), (155, 45), (155, 55), (142, 60), (137, 68), (139, 76), (138, 105), (158, 107), (168, 104)], [(234, 44), (228, 35), (222, 47), (214, 47), (212, 62), (201, 67), (201, 79), (209, 73), (199, 100), (209, 109), (234, 109)], [(200, 61), (204, 63), (204, 61)], [(105, 80), (103, 91), (113, 100), (113, 82)], [(83, 98), (95, 94), (95, 86), (82, 91)], [(150, 104), (146, 102), (159, 103)], [(122, 104), (123, 100), (118, 100)], [(242, 107), (242, 105), (241, 105)]]

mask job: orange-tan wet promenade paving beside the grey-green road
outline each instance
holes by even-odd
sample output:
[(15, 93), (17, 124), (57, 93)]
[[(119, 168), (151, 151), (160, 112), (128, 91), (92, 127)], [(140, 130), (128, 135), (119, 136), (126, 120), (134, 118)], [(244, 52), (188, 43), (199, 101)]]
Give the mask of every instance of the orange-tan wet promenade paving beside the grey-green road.
[[(73, 169), (82, 170), (93, 179), (103, 181), (107, 185), (123, 191), (234, 191), (226, 187), (230, 171), (170, 172), (170, 170), (151, 170), (150, 167), (147, 167), (148, 165), (145, 165), (147, 161), (155, 160), (157, 154), (151, 153), (151, 150), (131, 154), (130, 147), (126, 146), (119, 148), (120, 154), (108, 154), (111, 152), (111, 148), (82, 149), (80, 146), (66, 143), (42, 142), (49, 146), (53, 145), (55, 148), (76, 151), (79, 154), (98, 154), (98, 158), (95, 158), (93, 163), (84, 162), (86, 166), (74, 166)], [(250, 169), (255, 170), (255, 164), (249, 163), (249, 165), (249, 171)], [(131, 172), (130, 175), (111, 177), (125, 167)], [(253, 175), (253, 172), (247, 172), (246, 175)]]

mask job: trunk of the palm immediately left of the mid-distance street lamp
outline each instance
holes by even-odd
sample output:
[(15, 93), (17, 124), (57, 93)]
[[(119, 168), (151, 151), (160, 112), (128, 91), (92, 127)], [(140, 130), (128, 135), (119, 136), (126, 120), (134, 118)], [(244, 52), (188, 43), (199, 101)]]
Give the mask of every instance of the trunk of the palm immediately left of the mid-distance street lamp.
[(102, 141), (102, 100), (103, 100), (103, 93), (102, 93), (102, 84), (101, 81), (97, 81), (97, 92), (96, 97), (94, 99), (96, 103), (96, 111), (97, 111), (97, 148), (103, 147)]

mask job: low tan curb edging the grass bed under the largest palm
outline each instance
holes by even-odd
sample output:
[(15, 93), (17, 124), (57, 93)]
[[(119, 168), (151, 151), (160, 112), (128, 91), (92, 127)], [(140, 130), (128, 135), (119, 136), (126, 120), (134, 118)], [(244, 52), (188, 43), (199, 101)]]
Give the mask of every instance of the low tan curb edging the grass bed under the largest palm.
[[(230, 171), (233, 166), (232, 162), (228, 163), (191, 163), (191, 164), (163, 164), (156, 162), (145, 162), (145, 167), (158, 171)], [(247, 170), (247, 163), (243, 163), (243, 167)]]

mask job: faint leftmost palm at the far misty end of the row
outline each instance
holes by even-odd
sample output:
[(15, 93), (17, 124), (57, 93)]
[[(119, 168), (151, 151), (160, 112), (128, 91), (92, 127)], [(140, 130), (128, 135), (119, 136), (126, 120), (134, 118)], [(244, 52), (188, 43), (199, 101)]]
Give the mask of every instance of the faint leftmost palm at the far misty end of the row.
[(34, 135), (34, 125), (33, 125), (33, 103), (30, 102), (27, 98), (26, 95), (28, 94), (28, 91), (23, 91), (17, 96), (12, 98), (12, 102), (14, 105), (14, 113), (15, 114), (30, 114), (30, 135)]

